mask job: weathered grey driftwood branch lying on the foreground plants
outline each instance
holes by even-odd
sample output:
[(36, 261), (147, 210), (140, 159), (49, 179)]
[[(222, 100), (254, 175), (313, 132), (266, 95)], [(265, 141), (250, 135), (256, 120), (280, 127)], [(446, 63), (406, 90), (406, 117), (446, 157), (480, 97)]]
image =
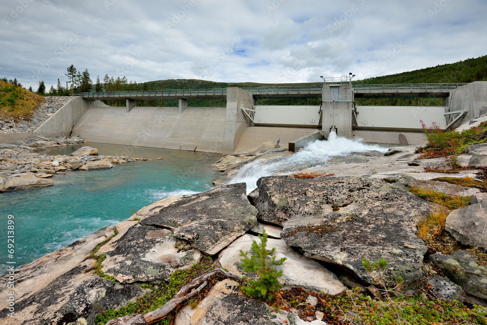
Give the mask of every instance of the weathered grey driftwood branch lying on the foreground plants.
[[(208, 279), (210, 276), (213, 276), (217, 273), (220, 273), (226, 276), (227, 278), (233, 280), (242, 281), (242, 278), (239, 275), (227, 272), (223, 269), (215, 269), (212, 271), (208, 271), (198, 276), (196, 279), (192, 280), (186, 285), (184, 285), (178, 291), (178, 293), (176, 293), (174, 297), (172, 297), (172, 299), (169, 300), (162, 307), (159, 307), (156, 310), (153, 310), (145, 315), (134, 314), (130, 316), (117, 317), (110, 320), (106, 325), (148, 325), (148, 324), (153, 324), (155, 322), (158, 322), (162, 320), (164, 317), (166, 317), (166, 315), (169, 314), (169, 312), (171, 312), (174, 308), (178, 307), (183, 301), (194, 296), (195, 294), (200, 292), (203, 288), (205, 288), (206, 285), (208, 284), (206, 279)], [(193, 289), (194, 287), (198, 287), (198, 288), (187, 293), (189, 290)]]

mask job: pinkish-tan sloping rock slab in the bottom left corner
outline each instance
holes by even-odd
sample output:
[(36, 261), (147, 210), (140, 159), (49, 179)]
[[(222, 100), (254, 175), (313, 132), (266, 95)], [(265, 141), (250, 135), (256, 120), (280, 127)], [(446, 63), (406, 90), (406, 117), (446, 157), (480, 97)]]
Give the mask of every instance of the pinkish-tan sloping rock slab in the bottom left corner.
[[(143, 294), (136, 285), (113, 283), (89, 271), (94, 248), (113, 235), (112, 226), (81, 238), (15, 270), (15, 317), (7, 316), (7, 290), (0, 292), (0, 324), (69, 324), (78, 318), (94, 324), (96, 315)], [(0, 277), (7, 288), (9, 274)], [(80, 323), (82, 324), (82, 323)]]

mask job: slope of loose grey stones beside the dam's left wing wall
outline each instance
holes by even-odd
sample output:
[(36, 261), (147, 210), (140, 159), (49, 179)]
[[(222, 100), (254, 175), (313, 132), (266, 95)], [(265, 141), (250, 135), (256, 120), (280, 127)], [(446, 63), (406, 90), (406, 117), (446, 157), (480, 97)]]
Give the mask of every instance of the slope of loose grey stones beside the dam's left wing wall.
[(32, 132), (72, 98), (70, 96), (45, 96), (44, 102), (34, 111), (29, 120), (0, 121), (0, 133)]

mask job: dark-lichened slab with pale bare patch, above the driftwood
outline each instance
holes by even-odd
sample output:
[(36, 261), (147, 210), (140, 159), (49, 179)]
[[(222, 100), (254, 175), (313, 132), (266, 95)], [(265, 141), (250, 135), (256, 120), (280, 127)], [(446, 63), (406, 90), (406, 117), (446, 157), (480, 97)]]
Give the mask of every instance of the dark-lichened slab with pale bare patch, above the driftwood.
[[(102, 271), (121, 283), (167, 281), (176, 269), (198, 263), (203, 254), (177, 242), (168, 229), (136, 224), (112, 243)], [(176, 248), (178, 247), (178, 248)]]

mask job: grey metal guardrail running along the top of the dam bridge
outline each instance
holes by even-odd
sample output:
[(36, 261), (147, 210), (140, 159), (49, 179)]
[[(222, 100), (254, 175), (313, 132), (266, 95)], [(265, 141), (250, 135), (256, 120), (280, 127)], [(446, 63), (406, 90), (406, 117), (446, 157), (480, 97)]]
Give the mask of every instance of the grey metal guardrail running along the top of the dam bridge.
[[(451, 90), (467, 83), (450, 84), (391, 84), (391, 85), (352, 85), (354, 91), (383, 91), (383, 90)], [(242, 88), (253, 94), (320, 94), (323, 91), (321, 86), (296, 86), (296, 87), (254, 87)], [(82, 97), (144, 97), (144, 96), (212, 96), (226, 95), (226, 88), (212, 89), (180, 89), (180, 90), (132, 90), (132, 91), (106, 91), (106, 92), (82, 92)]]

